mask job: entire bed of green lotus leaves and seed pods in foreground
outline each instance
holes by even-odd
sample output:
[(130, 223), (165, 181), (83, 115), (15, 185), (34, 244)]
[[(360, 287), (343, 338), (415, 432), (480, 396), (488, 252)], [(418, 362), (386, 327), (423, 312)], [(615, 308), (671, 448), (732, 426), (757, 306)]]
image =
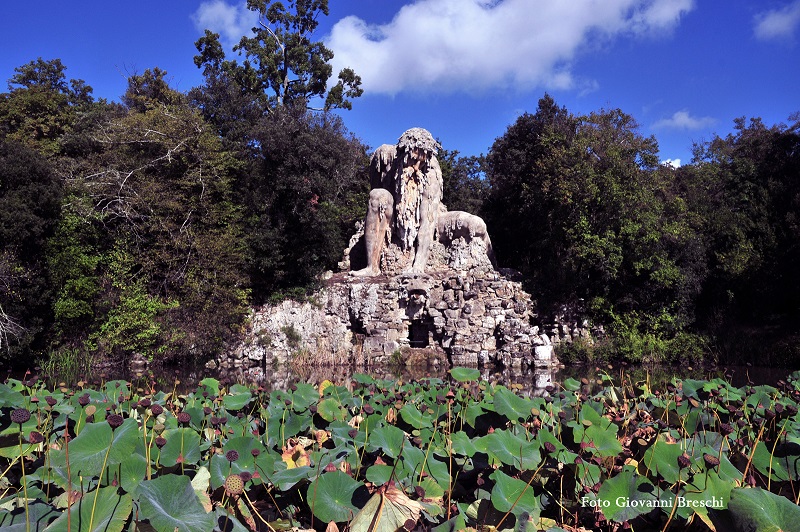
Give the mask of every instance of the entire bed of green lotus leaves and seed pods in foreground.
[(780, 388), (654, 390), (623, 372), (547, 397), (453, 376), (272, 392), (203, 379), (180, 394), (9, 379), (0, 525), (277, 530), (290, 506), (303, 529), (789, 530), (798, 518), (797, 373)]

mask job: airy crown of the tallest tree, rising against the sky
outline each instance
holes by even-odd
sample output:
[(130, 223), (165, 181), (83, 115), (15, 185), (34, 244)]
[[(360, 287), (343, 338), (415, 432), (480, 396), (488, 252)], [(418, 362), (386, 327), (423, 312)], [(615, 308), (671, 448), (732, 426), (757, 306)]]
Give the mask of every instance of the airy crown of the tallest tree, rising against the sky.
[(271, 0), (248, 0), (247, 7), (259, 13), (253, 37), (242, 37), (234, 47), (245, 59), (242, 64), (225, 61), (219, 35), (206, 30), (197, 43), (200, 55), (195, 64), (206, 78), (219, 79), (223, 73), (238, 87), (257, 98), (266, 112), (283, 106), (314, 107), (318, 110), (350, 109), (351, 98), (361, 96), (361, 78), (350, 68), (333, 74), (329, 61), (333, 52), (321, 41), (312, 41), (320, 15), (328, 15), (327, 0), (292, 0), (288, 7)]

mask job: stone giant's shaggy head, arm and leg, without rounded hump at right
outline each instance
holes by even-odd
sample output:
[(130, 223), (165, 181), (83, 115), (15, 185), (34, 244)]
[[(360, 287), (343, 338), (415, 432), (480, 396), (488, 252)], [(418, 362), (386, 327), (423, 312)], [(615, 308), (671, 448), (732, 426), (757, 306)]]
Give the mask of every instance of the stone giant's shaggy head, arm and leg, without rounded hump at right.
[(381, 252), (391, 241), (413, 253), (411, 272), (425, 271), (442, 201), (440, 147), (427, 130), (415, 127), (403, 133), (397, 146), (384, 144), (375, 151), (364, 223), (367, 267), (353, 275), (378, 275)]

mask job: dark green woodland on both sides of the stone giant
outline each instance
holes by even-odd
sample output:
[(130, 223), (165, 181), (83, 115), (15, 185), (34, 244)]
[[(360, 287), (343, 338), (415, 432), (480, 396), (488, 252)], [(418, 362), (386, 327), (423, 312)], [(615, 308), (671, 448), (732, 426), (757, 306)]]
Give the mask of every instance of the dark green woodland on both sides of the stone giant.
[[(360, 89), (345, 72), (326, 92), (329, 58), (291, 16), (264, 13), (241, 63), (207, 33), (205, 82), (187, 93), (159, 68), (131, 76), (120, 103), (58, 59), (16, 69), (0, 94), (0, 359), (201, 362), (251, 305), (336, 267), (365, 212), (369, 147), (330, 109)], [(297, 83), (270, 74), (270, 32), (306, 54), (277, 63)], [(545, 95), (486, 155), (445, 147), (444, 201), (486, 220), (541, 315), (572, 305), (606, 326), (607, 342), (566, 360), (789, 363), (799, 119), (737, 119), (674, 168), (623, 110), (578, 115)]]

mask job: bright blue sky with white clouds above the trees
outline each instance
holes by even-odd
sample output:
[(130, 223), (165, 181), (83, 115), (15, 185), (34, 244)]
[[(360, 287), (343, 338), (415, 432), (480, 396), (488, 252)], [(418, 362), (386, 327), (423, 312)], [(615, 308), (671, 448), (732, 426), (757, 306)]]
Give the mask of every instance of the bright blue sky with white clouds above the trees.
[[(117, 100), (126, 77), (169, 73), (186, 91), (203, 28), (233, 43), (255, 23), (238, 0), (7, 2), (0, 78), (37, 57)], [(662, 160), (800, 111), (800, 0), (330, 0), (318, 37), (364, 80), (342, 113), (376, 147), (421, 126), (445, 148), (485, 153), (550, 93), (573, 113), (620, 108)], [(4, 89), (4, 87), (3, 87)]]

